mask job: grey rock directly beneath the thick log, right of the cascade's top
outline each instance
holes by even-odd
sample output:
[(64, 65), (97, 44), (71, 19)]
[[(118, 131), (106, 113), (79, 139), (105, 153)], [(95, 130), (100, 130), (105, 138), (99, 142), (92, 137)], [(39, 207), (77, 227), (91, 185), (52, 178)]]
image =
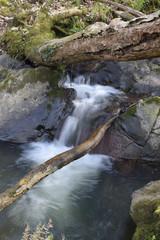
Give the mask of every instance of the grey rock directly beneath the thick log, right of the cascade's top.
[(160, 58), (130, 62), (107, 61), (91, 73), (91, 82), (111, 84), (137, 95), (160, 95)]

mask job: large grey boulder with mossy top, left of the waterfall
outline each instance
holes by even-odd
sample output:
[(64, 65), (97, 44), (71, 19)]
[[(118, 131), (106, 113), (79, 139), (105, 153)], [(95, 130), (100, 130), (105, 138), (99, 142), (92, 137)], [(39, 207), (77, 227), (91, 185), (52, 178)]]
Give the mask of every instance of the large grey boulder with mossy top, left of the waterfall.
[(58, 87), (61, 74), (38, 67), (9, 71), (0, 82), (0, 139), (27, 142), (58, 135), (72, 110), (72, 90)]

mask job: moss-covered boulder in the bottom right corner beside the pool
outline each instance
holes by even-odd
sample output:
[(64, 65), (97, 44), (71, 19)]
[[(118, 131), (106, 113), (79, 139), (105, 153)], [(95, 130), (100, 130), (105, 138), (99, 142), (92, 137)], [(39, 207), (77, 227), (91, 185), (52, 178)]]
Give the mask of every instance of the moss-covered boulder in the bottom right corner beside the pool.
[(132, 194), (130, 214), (137, 224), (133, 240), (159, 239), (160, 180), (150, 182)]

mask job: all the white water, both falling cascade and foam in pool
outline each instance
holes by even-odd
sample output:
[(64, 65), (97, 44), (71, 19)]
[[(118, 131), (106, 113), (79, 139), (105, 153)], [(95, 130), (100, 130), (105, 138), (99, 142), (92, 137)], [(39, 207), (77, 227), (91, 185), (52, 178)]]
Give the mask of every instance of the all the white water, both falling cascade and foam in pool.
[[(77, 144), (82, 134), (84, 124), (91, 117), (106, 108), (113, 95), (121, 94), (113, 87), (85, 84), (83, 77), (70, 83), (68, 78), (65, 87), (74, 88), (77, 97), (74, 100), (74, 111), (62, 128), (58, 140), (51, 143), (36, 142), (23, 147), (23, 154), (17, 161), (18, 166), (29, 165), (32, 168), (49, 158), (69, 149), (70, 138), (75, 138)], [(71, 226), (77, 219), (72, 207), (78, 199), (89, 197), (89, 193), (99, 181), (102, 171), (111, 171), (112, 163), (108, 156), (87, 154), (83, 158), (47, 177), (10, 208), (9, 217), (15, 224), (21, 225), (39, 223), (52, 217), (61, 226)], [(80, 210), (79, 210), (80, 211)]]

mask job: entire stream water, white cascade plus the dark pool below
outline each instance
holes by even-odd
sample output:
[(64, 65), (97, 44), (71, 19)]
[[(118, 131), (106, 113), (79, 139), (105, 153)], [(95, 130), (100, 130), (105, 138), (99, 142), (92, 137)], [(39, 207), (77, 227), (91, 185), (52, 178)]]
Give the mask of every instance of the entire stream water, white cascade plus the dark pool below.
[[(83, 76), (65, 87), (75, 89), (74, 111), (53, 142), (13, 144), (0, 142), (0, 191), (49, 158), (77, 145), (95, 115), (124, 97), (110, 86), (90, 85)], [(145, 169), (143, 167), (142, 169)], [(109, 156), (87, 154), (34, 186), (0, 212), (0, 240), (21, 239), (25, 223), (34, 228), (52, 218), (55, 239), (131, 240), (134, 223), (129, 217), (132, 192), (143, 186), (156, 169), (120, 174)], [(150, 177), (148, 177), (150, 175)]]

